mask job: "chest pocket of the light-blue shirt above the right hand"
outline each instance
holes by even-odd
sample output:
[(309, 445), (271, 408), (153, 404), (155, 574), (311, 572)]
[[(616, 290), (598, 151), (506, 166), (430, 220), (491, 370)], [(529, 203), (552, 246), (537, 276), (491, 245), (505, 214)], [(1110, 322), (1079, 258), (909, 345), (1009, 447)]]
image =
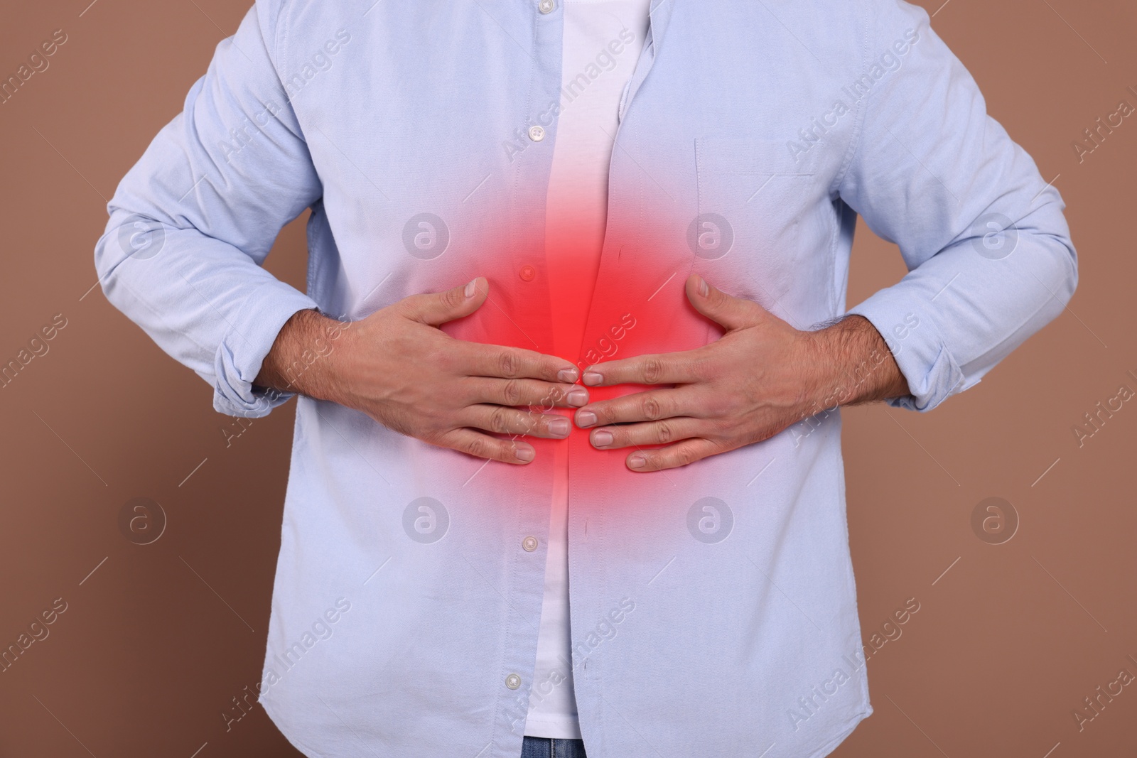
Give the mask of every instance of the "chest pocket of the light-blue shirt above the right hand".
[(827, 317), (836, 233), (827, 153), (795, 159), (787, 140), (714, 135), (697, 140), (696, 156), (695, 270), (798, 328)]

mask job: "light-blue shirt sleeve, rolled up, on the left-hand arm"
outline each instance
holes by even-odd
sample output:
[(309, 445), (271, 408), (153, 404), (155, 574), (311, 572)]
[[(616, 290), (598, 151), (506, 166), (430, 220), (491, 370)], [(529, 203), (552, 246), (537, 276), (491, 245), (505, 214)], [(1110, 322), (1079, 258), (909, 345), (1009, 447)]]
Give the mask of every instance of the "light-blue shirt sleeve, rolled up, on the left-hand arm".
[(252, 389), (277, 332), (315, 308), (262, 268), (281, 228), (322, 193), (274, 64), (277, 0), (222, 41), (184, 109), (119, 183), (94, 250), (107, 299), (214, 388), (214, 408), (264, 416)]

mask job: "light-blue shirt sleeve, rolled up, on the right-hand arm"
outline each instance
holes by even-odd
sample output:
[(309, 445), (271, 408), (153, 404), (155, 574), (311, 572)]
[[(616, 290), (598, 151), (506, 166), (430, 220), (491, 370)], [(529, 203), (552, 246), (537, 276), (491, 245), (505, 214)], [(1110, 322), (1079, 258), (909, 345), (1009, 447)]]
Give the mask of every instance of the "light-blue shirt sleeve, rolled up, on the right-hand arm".
[[(838, 192), (899, 247), (908, 274), (849, 313), (872, 322), (907, 380), (911, 397), (889, 403), (930, 410), (1062, 311), (1077, 255), (1057, 190), (987, 115), (927, 13), (869, 5), (871, 85)], [(896, 44), (905, 32), (915, 41)], [(899, 68), (878, 65), (887, 51)]]

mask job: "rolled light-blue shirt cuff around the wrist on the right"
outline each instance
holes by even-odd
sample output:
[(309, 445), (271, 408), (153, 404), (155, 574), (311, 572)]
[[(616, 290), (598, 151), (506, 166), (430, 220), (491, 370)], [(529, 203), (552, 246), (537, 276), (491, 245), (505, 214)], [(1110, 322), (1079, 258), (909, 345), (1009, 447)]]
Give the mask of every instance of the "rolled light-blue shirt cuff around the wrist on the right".
[[(910, 294), (886, 288), (848, 313), (868, 318), (880, 332), (908, 383), (911, 394), (888, 398), (889, 406), (927, 411), (968, 389), (963, 372), (944, 343), (932, 315), (927, 307), (913, 307)], [(914, 328), (911, 327), (913, 316), (919, 318)], [(903, 339), (898, 339), (897, 327)]]

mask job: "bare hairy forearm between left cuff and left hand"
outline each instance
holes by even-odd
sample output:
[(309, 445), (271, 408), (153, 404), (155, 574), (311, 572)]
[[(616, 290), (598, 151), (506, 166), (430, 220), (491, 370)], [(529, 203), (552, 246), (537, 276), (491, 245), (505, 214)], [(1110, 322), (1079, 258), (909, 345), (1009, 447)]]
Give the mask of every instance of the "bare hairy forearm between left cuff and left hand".
[(281, 327), (252, 385), (258, 391), (293, 392), (335, 400), (340, 395), (334, 352), (350, 322), (318, 310), (299, 310)]

